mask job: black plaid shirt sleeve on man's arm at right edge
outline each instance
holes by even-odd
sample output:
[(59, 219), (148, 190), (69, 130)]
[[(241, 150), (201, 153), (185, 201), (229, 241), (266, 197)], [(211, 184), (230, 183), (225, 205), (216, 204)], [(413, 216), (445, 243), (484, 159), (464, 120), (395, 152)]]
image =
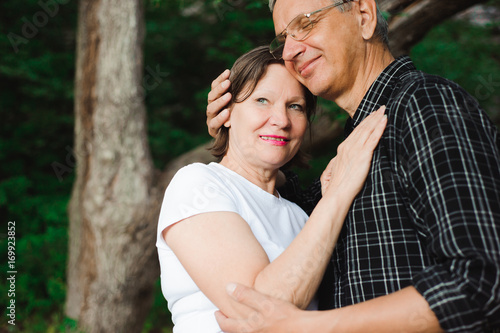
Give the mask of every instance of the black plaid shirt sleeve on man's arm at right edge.
[(395, 106), (404, 112), (397, 150), (401, 186), (416, 231), (434, 262), (414, 277), (413, 285), (444, 330), (496, 331), (498, 130), (460, 87), (430, 81), (414, 80)]

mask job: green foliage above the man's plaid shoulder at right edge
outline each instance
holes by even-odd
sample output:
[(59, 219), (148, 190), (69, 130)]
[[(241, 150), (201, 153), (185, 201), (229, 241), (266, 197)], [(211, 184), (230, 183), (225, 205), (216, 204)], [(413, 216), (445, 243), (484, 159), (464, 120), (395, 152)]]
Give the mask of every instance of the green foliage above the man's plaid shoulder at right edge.
[(498, 28), (499, 23), (480, 27), (448, 21), (412, 49), (412, 58), (417, 68), (457, 82), (492, 117), (499, 117), (500, 43), (491, 42), (498, 38)]

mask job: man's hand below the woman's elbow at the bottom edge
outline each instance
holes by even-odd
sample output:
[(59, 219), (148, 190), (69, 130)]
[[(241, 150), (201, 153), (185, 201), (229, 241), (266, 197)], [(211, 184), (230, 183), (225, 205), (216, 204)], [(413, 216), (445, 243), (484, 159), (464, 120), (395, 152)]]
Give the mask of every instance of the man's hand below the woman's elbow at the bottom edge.
[(246, 305), (249, 310), (245, 319), (232, 319), (220, 311), (215, 312), (215, 318), (224, 332), (300, 332), (296, 319), (304, 315), (306, 311), (242, 285), (228, 285), (227, 292), (237, 302)]

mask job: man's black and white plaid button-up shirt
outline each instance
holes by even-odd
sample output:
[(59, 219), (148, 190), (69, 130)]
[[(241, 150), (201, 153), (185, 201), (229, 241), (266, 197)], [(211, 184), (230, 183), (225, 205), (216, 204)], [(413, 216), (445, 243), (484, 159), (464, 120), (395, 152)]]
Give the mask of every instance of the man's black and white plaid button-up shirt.
[[(443, 329), (496, 331), (498, 130), (462, 88), (417, 71), (408, 57), (380, 74), (346, 135), (381, 105), (387, 128), (345, 220), (320, 304), (338, 308), (412, 285)], [(287, 191), (294, 187), (290, 198), (306, 211), (321, 197), (319, 182), (300, 192), (292, 181)]]

